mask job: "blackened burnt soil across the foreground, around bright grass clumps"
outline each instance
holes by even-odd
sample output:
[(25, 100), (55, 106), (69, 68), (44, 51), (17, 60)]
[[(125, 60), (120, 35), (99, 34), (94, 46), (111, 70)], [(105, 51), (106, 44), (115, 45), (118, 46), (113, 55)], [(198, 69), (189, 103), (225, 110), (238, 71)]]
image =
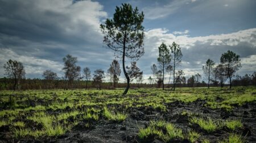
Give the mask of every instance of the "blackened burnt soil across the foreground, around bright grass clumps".
[[(89, 127), (85, 127), (86, 122), (80, 122), (71, 131), (56, 138), (11, 140), (0, 136), (2, 138), (0, 138), (0, 142), (143, 142), (139, 140), (137, 133), (139, 128), (147, 127), (150, 120), (166, 120), (183, 129), (184, 133), (193, 129), (201, 134), (200, 138), (208, 138), (210, 142), (218, 142), (228, 137), (229, 133), (232, 132), (245, 138), (245, 142), (256, 141), (255, 103), (246, 103), (243, 106), (234, 105), (232, 111), (213, 110), (205, 107), (204, 104), (205, 101), (201, 99), (192, 103), (176, 101), (166, 104), (167, 111), (165, 112), (152, 107), (130, 108), (126, 111), (129, 116), (121, 123), (110, 122), (102, 118), (97, 122), (90, 122)], [(213, 133), (207, 133), (199, 125), (189, 123), (188, 115), (181, 115), (182, 111), (190, 112), (194, 116), (211, 117), (213, 119), (240, 119), (243, 127), (235, 131), (229, 131), (229, 129), (222, 127)], [(2, 135), (3, 132), (5, 132), (5, 127), (0, 129)], [(147, 142), (161, 141), (153, 138)]]

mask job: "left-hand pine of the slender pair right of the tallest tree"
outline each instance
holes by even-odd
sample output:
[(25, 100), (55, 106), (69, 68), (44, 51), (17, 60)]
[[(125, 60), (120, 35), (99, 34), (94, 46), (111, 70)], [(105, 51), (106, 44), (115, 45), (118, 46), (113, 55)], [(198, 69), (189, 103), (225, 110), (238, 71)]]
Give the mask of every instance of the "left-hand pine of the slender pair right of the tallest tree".
[(166, 44), (162, 43), (158, 47), (159, 56), (158, 56), (158, 64), (159, 67), (162, 69), (162, 88), (164, 90), (164, 70), (166, 70), (166, 66), (170, 64), (171, 57), (170, 57), (170, 50), (167, 48)]

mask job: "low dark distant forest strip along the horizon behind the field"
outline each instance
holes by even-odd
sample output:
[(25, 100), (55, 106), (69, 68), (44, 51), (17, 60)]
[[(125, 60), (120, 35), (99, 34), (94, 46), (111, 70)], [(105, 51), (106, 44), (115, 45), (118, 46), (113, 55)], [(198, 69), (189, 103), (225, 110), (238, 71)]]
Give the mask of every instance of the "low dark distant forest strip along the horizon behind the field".
[[(0, 78), (0, 90), (12, 90), (14, 85), (14, 79), (7, 77)], [(236, 76), (232, 80), (233, 86), (256, 86), (256, 72), (252, 75), (246, 74), (245, 76)], [(171, 88), (173, 84), (164, 85), (165, 88)], [(208, 84), (205, 81), (202, 82), (190, 82), (177, 83), (177, 87), (207, 87)], [(220, 83), (212, 83), (210, 86), (221, 86)], [(225, 84), (228, 86), (228, 84)], [(73, 89), (85, 89), (86, 80), (76, 80), (73, 83)], [(115, 88), (125, 88), (126, 83), (117, 83)], [(87, 88), (97, 88), (97, 85), (93, 84), (93, 81), (88, 81)], [(115, 89), (113, 83), (102, 83), (102, 89)], [(162, 84), (146, 84), (146, 83), (131, 83), (131, 88), (162, 88)], [(20, 81), (18, 89), (68, 89), (67, 80), (46, 80), (46, 79), (22, 79)]]

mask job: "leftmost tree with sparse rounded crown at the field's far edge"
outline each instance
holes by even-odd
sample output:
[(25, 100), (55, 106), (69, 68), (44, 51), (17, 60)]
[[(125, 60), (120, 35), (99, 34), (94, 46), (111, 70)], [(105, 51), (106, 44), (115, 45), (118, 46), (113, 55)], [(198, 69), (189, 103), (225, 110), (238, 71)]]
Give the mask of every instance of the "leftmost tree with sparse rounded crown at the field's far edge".
[(10, 79), (14, 79), (13, 90), (16, 89), (17, 84), (19, 89), (19, 82), (25, 77), (26, 74), (23, 64), (17, 62), (16, 60), (9, 59), (6, 64), (4, 64), (3, 68), (5, 68), (5, 75), (7, 75), (7, 77)]

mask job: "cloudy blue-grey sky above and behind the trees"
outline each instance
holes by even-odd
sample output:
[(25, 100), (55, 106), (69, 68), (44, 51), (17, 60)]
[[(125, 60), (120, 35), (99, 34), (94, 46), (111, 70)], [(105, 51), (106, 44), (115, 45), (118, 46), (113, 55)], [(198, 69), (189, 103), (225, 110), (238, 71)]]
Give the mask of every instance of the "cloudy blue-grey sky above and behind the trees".
[(145, 15), (145, 53), (138, 60), (144, 79), (157, 63), (161, 42), (174, 41), (181, 47), (179, 68), (186, 77), (202, 74), (208, 58), (219, 63), (227, 50), (241, 57), (238, 74), (256, 71), (255, 0), (0, 0), (0, 77), (8, 59), (22, 62), (28, 78), (42, 78), (48, 69), (62, 77), (67, 54), (77, 57), (82, 68), (106, 71), (114, 53), (102, 43), (100, 24), (125, 2)]

